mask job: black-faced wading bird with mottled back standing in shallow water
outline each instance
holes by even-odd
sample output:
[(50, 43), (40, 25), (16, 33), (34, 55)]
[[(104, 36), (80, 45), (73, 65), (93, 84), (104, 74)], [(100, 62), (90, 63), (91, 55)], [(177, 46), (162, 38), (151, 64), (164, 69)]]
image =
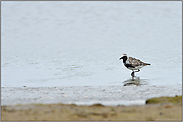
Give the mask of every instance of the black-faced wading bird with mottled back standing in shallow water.
[(140, 69), (144, 66), (151, 65), (149, 63), (144, 63), (139, 59), (135, 59), (132, 57), (128, 57), (127, 54), (123, 54), (122, 57), (119, 59), (123, 59), (123, 64), (126, 68), (132, 70), (131, 76), (135, 76), (135, 72), (139, 72)]

